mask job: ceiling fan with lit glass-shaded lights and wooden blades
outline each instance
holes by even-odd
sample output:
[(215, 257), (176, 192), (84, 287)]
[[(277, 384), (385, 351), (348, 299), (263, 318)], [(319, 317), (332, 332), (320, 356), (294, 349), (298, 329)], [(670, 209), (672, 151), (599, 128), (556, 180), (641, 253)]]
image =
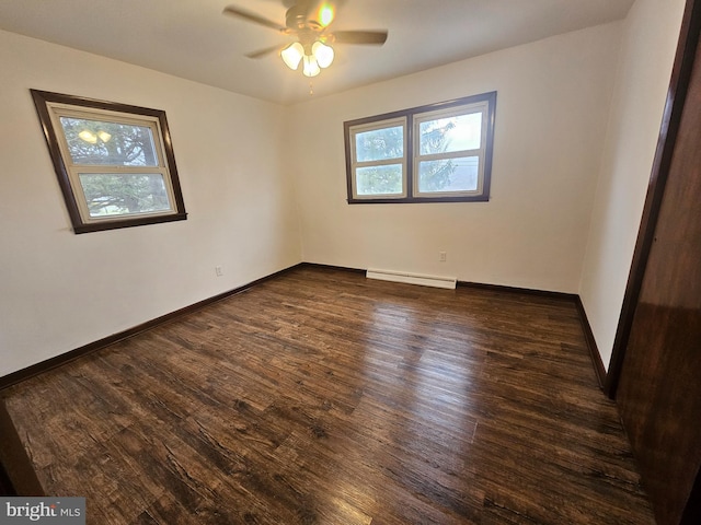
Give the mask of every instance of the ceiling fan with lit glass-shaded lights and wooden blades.
[(329, 31), (336, 18), (337, 3), (320, 0), (297, 0), (290, 3), (285, 16), (285, 25), (261, 16), (254, 12), (227, 5), (223, 14), (275, 30), (291, 36), (295, 42), (287, 46), (273, 46), (246, 54), (249, 58), (262, 58), (278, 51), (288, 68), (297, 70), (302, 65), (306, 77), (315, 77), (321, 69), (333, 62), (332, 44), (363, 44), (381, 46), (387, 40), (387, 30), (380, 31)]

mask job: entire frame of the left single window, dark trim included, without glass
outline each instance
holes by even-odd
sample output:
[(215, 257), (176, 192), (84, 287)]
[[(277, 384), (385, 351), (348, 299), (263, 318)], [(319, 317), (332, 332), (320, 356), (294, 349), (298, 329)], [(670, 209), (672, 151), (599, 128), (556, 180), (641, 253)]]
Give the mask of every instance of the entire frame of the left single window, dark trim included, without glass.
[[(54, 167), (64, 191), (76, 233), (87, 233), (117, 228), (154, 224), (185, 220), (180, 180), (175, 167), (165, 113), (104, 101), (93, 101), (31, 90), (42, 121)], [(153, 139), (154, 166), (125, 166), (119, 164), (74, 163), (60, 118), (77, 118), (147, 127)], [(125, 212), (104, 217), (91, 217), (88, 200), (80, 182), (81, 174), (152, 174), (161, 175), (165, 186), (169, 208), (149, 212)]]

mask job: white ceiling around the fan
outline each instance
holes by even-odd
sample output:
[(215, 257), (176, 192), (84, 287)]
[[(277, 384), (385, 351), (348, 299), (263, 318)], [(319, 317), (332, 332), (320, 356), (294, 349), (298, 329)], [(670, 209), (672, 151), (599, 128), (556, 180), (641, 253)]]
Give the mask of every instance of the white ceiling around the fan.
[[(389, 30), (384, 46), (337, 45), (315, 96), (625, 16), (634, 0), (345, 0), (332, 30)], [(289, 0), (0, 0), (0, 28), (283, 104), (309, 79), (244, 54), (289, 37), (225, 16), (233, 4), (285, 25)], [(291, 40), (289, 40), (291, 42)]]

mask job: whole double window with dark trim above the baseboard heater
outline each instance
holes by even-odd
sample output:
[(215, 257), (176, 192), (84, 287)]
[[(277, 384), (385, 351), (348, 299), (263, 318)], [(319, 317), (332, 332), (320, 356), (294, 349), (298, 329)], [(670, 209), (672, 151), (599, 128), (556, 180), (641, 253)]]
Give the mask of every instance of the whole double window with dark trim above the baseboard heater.
[(496, 92), (344, 122), (348, 202), (490, 199)]

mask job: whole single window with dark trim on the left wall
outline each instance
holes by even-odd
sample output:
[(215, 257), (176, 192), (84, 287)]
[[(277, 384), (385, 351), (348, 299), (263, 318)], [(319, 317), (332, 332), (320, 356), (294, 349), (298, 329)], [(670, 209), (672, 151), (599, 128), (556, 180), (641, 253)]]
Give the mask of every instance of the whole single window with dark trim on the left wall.
[(187, 218), (164, 112), (31, 91), (76, 233)]

